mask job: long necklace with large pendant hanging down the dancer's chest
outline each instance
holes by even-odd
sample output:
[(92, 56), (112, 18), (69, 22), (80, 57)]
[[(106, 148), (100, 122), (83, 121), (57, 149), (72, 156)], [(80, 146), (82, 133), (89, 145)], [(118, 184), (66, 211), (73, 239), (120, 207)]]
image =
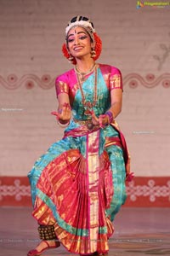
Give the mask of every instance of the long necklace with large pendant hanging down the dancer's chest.
[(78, 81), (78, 85), (79, 85), (80, 92), (81, 92), (81, 95), (82, 95), (82, 105), (85, 108), (85, 112), (84, 112), (85, 115), (91, 115), (91, 110), (92, 110), (92, 108), (94, 108), (94, 106), (96, 105), (96, 102), (97, 102), (97, 77), (98, 77), (98, 72), (97, 72), (96, 65), (94, 67), (95, 67), (95, 73), (94, 73), (94, 101), (93, 102), (87, 102), (86, 101), (85, 96), (84, 96), (84, 92), (82, 90), (82, 82), (81, 82), (81, 80), (79, 78), (79, 75), (77, 73), (77, 81)]

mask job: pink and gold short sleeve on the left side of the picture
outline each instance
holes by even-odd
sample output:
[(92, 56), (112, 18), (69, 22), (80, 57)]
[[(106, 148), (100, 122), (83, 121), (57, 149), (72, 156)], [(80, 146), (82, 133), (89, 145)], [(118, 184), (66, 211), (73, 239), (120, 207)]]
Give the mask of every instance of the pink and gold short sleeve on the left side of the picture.
[(59, 96), (60, 93), (67, 93), (69, 94), (69, 84), (68, 79), (65, 74), (60, 75), (55, 80), (55, 90), (56, 95)]

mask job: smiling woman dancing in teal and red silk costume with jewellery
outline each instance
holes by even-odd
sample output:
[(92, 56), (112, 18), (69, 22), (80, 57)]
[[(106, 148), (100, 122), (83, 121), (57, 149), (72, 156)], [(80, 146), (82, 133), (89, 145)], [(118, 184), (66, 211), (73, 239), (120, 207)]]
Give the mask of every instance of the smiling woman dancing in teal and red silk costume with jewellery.
[(27, 255), (63, 246), (80, 255), (107, 255), (112, 221), (126, 200), (129, 154), (116, 116), (122, 109), (122, 75), (95, 61), (101, 40), (86, 17), (65, 29), (63, 53), (74, 68), (56, 79), (53, 112), (64, 137), (28, 174), (32, 215), (42, 241)]

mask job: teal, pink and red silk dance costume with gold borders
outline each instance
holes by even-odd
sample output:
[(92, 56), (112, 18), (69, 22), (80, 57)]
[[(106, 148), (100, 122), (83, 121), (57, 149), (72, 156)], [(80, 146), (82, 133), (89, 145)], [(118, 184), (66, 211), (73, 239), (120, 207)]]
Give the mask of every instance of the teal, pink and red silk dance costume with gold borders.
[[(116, 67), (99, 64), (94, 113), (111, 107), (111, 90), (122, 89)], [(82, 84), (86, 101), (94, 101), (94, 73)], [(56, 79), (56, 92), (70, 97), (72, 119), (64, 137), (51, 145), (33, 166), (32, 215), (53, 224), (56, 236), (71, 253), (105, 253), (113, 234), (112, 220), (126, 200), (129, 154), (114, 121), (104, 129), (93, 125), (82, 105), (74, 69)]]

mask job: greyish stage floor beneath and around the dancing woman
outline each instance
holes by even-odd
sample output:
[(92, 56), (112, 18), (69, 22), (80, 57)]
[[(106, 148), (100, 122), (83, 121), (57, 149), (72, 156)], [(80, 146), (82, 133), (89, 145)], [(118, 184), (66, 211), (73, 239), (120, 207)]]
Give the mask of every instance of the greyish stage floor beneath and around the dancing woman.
[[(24, 256), (39, 242), (30, 207), (0, 208), (0, 255)], [(117, 214), (109, 256), (170, 255), (170, 208), (127, 208)], [(64, 247), (42, 255), (76, 255)]]

